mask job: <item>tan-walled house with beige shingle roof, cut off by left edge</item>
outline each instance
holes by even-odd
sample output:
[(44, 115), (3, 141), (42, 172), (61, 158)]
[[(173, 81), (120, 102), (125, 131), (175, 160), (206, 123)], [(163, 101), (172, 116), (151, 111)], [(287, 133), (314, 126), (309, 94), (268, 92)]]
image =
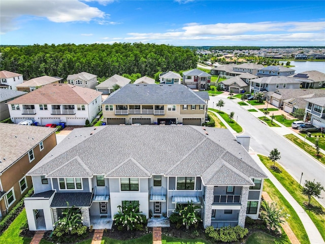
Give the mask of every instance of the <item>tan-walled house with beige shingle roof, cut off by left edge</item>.
[(55, 131), (0, 123), (0, 219), (32, 187), (26, 173), (56, 145)]

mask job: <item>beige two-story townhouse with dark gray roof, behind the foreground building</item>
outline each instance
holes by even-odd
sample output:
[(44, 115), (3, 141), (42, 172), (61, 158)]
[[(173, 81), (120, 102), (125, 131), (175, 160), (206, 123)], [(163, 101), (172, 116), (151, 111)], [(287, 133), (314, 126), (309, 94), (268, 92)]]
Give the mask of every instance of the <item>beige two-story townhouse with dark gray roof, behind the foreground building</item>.
[[(205, 95), (205, 96), (204, 96)], [(107, 125), (202, 125), (207, 118), (207, 92), (184, 85), (127, 84), (102, 102)]]

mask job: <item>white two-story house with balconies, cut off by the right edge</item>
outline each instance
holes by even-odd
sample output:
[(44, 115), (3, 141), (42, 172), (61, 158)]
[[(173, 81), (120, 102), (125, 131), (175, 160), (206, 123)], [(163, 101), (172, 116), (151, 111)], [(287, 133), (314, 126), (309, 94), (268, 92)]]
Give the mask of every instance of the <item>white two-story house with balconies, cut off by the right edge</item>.
[(325, 128), (325, 96), (305, 99), (306, 109), (304, 120), (314, 126)]

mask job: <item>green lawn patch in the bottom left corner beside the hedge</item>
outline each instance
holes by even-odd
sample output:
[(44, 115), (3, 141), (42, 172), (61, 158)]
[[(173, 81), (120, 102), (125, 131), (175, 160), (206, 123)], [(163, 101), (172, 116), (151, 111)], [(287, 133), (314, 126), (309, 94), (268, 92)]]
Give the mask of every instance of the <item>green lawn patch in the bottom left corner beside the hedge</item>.
[(20, 226), (27, 221), (26, 211), (23, 209), (17, 218), (11, 223), (9, 228), (0, 235), (0, 243), (15, 243), (15, 244), (27, 244), (31, 241), (31, 238), (21, 237)]

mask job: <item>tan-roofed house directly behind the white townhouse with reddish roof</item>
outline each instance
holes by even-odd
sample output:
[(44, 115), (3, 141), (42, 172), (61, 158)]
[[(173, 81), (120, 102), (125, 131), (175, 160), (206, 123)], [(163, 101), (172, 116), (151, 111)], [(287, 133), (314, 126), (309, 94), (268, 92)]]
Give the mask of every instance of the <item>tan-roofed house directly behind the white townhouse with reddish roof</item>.
[(35, 90), (43, 85), (58, 83), (63, 83), (63, 79), (60, 77), (44, 75), (41, 77), (24, 81), (23, 83), (16, 85), (16, 87), (17, 90), (21, 90), (23, 92), (31, 92), (32, 90)]

